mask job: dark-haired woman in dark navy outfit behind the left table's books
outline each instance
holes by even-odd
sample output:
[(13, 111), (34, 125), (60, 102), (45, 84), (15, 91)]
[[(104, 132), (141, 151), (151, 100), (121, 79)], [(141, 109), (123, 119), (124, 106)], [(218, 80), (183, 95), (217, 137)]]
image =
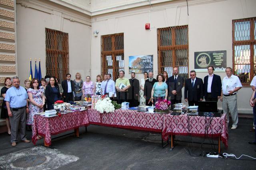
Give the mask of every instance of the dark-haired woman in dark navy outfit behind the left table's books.
[(50, 82), (45, 88), (45, 96), (47, 99), (47, 109), (52, 110), (54, 109), (53, 104), (57, 100), (60, 100), (60, 90), (57, 82), (55, 81), (55, 77), (50, 78)]

